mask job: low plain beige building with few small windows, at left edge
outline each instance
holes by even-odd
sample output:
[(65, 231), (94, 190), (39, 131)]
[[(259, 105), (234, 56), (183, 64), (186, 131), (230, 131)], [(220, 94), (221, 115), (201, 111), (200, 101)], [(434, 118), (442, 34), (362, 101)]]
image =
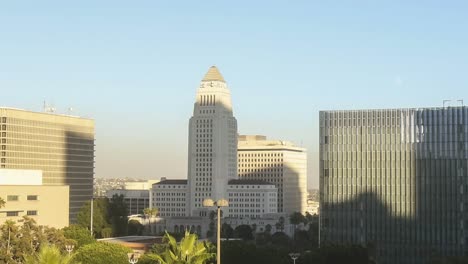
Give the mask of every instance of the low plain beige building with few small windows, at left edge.
[(0, 169), (0, 197), (6, 202), (0, 208), (0, 224), (29, 216), (39, 225), (68, 226), (69, 187), (38, 182), (42, 182), (40, 171)]

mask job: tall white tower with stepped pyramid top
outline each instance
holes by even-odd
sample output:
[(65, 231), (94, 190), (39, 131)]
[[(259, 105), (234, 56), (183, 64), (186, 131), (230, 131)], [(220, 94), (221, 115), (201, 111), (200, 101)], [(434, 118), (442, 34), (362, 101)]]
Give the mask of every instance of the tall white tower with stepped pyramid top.
[(189, 124), (188, 213), (199, 215), (203, 200), (225, 198), (228, 181), (237, 178), (237, 121), (231, 93), (213, 66), (198, 88)]

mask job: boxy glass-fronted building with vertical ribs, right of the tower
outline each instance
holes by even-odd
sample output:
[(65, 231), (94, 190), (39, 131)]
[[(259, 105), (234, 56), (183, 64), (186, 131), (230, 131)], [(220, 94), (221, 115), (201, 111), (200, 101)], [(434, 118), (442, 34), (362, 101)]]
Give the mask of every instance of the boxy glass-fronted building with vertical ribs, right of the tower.
[(468, 249), (468, 108), (320, 112), (320, 241), (378, 263)]

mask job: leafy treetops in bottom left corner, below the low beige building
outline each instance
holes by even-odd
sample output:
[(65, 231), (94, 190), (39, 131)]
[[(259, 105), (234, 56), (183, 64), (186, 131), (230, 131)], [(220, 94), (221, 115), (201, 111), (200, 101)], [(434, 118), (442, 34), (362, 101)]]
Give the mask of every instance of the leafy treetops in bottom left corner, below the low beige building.
[(23, 217), (21, 226), (13, 221), (6, 221), (0, 226), (0, 263), (17, 263), (39, 250), (39, 245), (55, 244), (65, 250), (67, 240), (61, 230), (38, 226), (36, 221)]

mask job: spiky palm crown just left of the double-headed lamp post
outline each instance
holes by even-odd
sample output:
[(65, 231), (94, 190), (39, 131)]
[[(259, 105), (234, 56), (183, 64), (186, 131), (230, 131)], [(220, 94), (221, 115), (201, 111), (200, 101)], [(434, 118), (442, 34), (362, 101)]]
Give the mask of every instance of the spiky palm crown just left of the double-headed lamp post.
[(167, 232), (164, 239), (168, 244), (165, 252), (160, 255), (148, 254), (150, 259), (159, 261), (160, 264), (204, 264), (216, 256), (209, 253), (209, 242), (198, 241), (198, 236), (190, 234), (188, 230), (180, 243)]

